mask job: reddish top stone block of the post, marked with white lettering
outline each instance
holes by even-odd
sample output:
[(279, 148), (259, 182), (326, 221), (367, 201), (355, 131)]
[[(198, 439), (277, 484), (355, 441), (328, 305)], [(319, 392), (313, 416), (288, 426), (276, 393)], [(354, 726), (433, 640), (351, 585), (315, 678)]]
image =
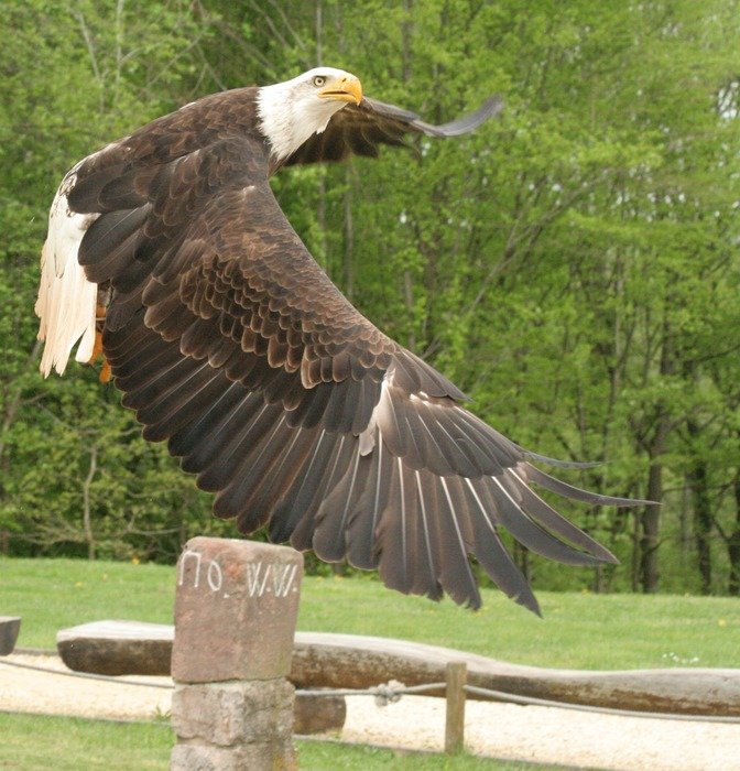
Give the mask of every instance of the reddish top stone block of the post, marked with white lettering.
[(303, 555), (287, 546), (195, 537), (177, 563), (172, 676), (271, 680), (291, 670)]

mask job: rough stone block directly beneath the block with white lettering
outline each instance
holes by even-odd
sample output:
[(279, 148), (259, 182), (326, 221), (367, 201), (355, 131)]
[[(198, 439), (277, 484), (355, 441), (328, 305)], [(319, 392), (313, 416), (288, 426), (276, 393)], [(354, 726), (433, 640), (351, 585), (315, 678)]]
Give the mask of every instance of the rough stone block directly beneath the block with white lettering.
[(290, 742), (293, 686), (273, 681), (177, 685), (172, 696), (172, 727), (182, 740), (211, 745)]

